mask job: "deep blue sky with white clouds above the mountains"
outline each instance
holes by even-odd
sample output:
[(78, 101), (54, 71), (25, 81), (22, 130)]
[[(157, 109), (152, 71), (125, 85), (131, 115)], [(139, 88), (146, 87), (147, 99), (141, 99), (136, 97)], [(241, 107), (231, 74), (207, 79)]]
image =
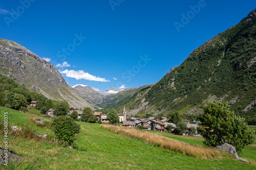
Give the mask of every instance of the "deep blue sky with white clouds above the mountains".
[(254, 0), (9, 0), (0, 3), (0, 38), (49, 60), (71, 86), (139, 87), (254, 8)]

